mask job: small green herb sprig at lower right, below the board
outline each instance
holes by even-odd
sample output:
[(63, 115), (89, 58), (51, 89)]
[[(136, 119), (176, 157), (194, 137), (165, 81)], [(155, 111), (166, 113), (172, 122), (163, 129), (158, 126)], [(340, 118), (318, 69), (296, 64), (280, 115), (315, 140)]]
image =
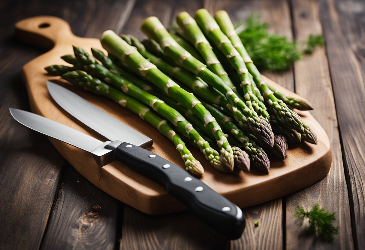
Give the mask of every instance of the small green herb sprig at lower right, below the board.
[(309, 226), (306, 229), (312, 235), (319, 234), (322, 239), (334, 242), (334, 235), (338, 234), (338, 227), (332, 224), (336, 220), (335, 212), (330, 213), (324, 208), (319, 208), (318, 204), (315, 204), (311, 211), (304, 211), (303, 207), (298, 205), (294, 216), (298, 217), (300, 226), (305, 218), (309, 219)]

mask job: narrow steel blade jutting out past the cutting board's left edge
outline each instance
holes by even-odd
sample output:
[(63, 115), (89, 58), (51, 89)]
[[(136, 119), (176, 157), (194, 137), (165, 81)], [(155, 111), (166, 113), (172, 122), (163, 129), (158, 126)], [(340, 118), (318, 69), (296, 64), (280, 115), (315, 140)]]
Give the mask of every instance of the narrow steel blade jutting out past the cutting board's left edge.
[(42, 133), (43, 135), (53, 137), (75, 147), (84, 149), (85, 151), (91, 152), (104, 143), (103, 141), (99, 141), (94, 137), (49, 120), (41, 115), (20, 109), (10, 108), (9, 110), (14, 119), (24, 126)]

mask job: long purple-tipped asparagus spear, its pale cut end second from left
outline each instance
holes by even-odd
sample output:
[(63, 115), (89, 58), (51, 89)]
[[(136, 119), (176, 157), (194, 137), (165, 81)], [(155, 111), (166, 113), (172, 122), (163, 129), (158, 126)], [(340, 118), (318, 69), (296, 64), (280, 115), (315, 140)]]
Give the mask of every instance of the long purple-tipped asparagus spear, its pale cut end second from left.
[(141, 29), (148, 37), (160, 43), (161, 48), (170, 58), (188, 71), (195, 73), (211, 87), (216, 88), (222, 94), (226, 95), (228, 102), (234, 107), (233, 111), (237, 110), (237, 108), (241, 109), (245, 117), (241, 117), (240, 119), (247, 122), (247, 125), (257, 139), (264, 141), (269, 147), (273, 146), (274, 135), (270, 129), (270, 125), (265, 120), (259, 118), (253, 110), (249, 109), (219, 76), (215, 75), (203, 63), (181, 48), (166, 31), (158, 18), (155, 16), (147, 18), (143, 22)]

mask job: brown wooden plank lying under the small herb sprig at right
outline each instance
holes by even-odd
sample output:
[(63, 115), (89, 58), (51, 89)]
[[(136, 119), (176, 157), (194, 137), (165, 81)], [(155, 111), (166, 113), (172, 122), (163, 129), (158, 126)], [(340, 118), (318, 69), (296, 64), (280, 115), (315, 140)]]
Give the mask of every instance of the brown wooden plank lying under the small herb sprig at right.
[[(322, 34), (320, 15), (322, 16), (323, 12), (319, 11), (315, 0), (292, 0), (293, 27), (297, 41), (307, 39), (310, 34)], [(324, 27), (324, 32), (326, 29), (328, 27)], [(327, 37), (326, 44), (329, 46)], [(294, 72), (297, 94), (312, 103), (314, 110), (311, 114), (323, 126), (331, 140), (332, 167), (322, 181), (287, 197), (287, 249), (353, 249), (349, 200), (325, 49), (317, 48), (312, 55), (305, 56), (303, 60), (296, 62)], [(336, 212), (335, 225), (340, 227), (334, 244), (306, 235), (306, 225), (299, 228), (297, 226), (296, 218), (293, 216), (297, 205), (311, 209), (315, 203)]]

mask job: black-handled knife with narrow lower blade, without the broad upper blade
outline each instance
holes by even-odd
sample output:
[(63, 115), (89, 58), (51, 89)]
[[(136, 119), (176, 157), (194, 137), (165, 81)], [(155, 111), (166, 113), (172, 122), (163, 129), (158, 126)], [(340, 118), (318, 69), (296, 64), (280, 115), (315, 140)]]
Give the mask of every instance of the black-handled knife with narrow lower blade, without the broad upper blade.
[(103, 143), (28, 111), (10, 108), (10, 113), (16, 121), (28, 128), (90, 152), (99, 166), (119, 161), (164, 184), (168, 192), (183, 202), (199, 219), (228, 238), (238, 239), (242, 235), (245, 218), (239, 207), (172, 162), (133, 145), (132, 137), (128, 142), (115, 140)]

